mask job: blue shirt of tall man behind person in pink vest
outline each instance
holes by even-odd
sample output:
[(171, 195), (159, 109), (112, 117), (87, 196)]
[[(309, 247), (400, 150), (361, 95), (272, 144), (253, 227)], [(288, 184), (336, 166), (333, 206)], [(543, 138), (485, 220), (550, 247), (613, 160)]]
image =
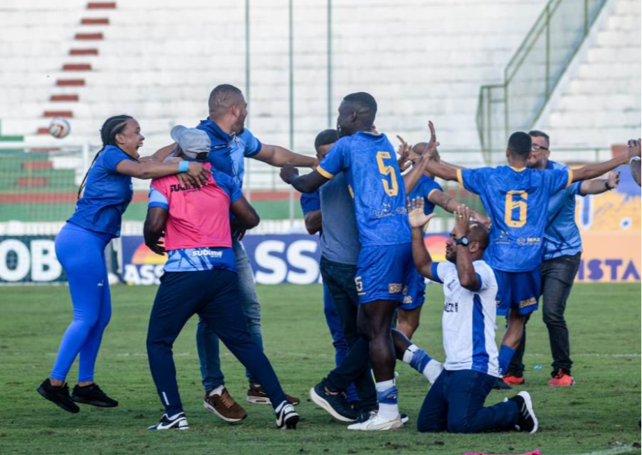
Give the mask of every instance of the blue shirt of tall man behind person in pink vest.
[(208, 162), (218, 171), (229, 175), (243, 189), (245, 177), (245, 158), (257, 156), (263, 144), (244, 130), (238, 135), (229, 135), (211, 120), (201, 121), (197, 129), (205, 131), (212, 141)]

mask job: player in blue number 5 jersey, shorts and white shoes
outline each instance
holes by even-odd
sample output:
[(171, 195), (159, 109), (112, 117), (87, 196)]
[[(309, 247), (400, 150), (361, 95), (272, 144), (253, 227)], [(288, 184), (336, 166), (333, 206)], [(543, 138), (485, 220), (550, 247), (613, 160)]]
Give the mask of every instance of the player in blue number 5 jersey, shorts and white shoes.
[(341, 140), (321, 165), (303, 177), (292, 166), (284, 167), (281, 173), (287, 184), (301, 193), (312, 193), (345, 172), (354, 194), (361, 241), (356, 276), (358, 323), (369, 342), (379, 402), (378, 414), (349, 427), (361, 431), (394, 430), (403, 425), (390, 326), (403, 299), (404, 283), (414, 268), (404, 180), (388, 137), (372, 133), (376, 112), (376, 100), (371, 95), (346, 96), (337, 121)]

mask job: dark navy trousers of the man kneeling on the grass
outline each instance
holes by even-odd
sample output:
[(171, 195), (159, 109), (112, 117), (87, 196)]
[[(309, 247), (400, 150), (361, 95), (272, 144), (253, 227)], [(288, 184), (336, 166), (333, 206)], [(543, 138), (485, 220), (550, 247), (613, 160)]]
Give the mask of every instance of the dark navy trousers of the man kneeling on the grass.
[(421, 433), (487, 433), (514, 430), (514, 401), (484, 408), (496, 378), (476, 371), (444, 371), (431, 387), (419, 414)]

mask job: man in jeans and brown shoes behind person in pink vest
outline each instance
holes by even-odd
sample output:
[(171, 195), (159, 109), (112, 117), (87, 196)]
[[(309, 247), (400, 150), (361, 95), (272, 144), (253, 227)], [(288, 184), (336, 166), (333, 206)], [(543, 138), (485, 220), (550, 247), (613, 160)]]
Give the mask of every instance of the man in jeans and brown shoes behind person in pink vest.
[[(236, 185), (243, 189), (245, 177), (245, 158), (254, 158), (275, 167), (282, 167), (290, 163), (297, 167), (314, 167), (316, 158), (295, 154), (283, 147), (262, 144), (250, 130), (245, 128), (247, 119), (247, 102), (240, 89), (224, 84), (216, 87), (208, 100), (209, 117), (197, 126), (205, 131), (211, 140), (211, 151), (207, 157), (215, 170), (232, 177)], [(171, 151), (171, 149), (169, 149)], [(164, 159), (165, 156), (156, 156)], [(233, 231), (236, 227), (233, 225)], [(243, 230), (236, 230), (234, 234), (234, 253), (238, 267), (238, 281), (240, 294), (243, 297), (243, 311), (250, 329), (252, 340), (263, 347), (261, 335), (261, 304), (254, 285), (254, 273), (250, 265), (243, 244)], [(206, 328), (204, 323), (199, 324), (197, 332), (197, 345), (201, 361), (201, 375), (206, 390), (205, 407), (225, 422), (236, 423), (247, 417), (247, 413), (231, 398), (224, 386), (224, 375), (220, 366), (219, 340)], [(250, 387), (247, 391), (247, 402), (252, 404), (269, 405), (270, 399), (250, 372), (247, 372)], [(288, 397), (291, 403), (298, 405), (300, 400)]]

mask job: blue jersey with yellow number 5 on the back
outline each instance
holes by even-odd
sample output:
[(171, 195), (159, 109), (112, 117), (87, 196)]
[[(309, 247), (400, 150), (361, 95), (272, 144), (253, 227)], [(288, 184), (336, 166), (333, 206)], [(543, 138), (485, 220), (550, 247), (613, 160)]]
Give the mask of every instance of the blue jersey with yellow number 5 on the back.
[(362, 247), (411, 243), (404, 177), (388, 137), (363, 132), (343, 137), (318, 171), (328, 179), (346, 174)]

